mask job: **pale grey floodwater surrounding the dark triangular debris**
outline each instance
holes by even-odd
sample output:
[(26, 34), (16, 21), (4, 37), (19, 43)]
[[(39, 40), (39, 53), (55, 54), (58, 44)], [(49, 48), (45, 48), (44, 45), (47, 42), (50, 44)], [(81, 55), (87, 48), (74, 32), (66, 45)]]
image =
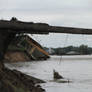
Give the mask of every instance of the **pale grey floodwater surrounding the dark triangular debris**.
[[(43, 79), (46, 92), (92, 92), (92, 55), (51, 56), (47, 61), (6, 64), (28, 75)], [(53, 81), (53, 69), (70, 83)]]

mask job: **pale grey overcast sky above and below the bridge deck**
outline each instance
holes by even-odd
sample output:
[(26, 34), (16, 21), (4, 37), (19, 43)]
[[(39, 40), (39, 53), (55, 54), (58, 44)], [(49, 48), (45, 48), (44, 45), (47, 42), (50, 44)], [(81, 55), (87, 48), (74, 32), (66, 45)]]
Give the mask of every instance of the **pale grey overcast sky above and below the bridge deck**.
[[(23, 21), (92, 28), (92, 0), (0, 0), (0, 18), (13, 16)], [(92, 46), (92, 36), (87, 35), (50, 34), (33, 38), (48, 47)]]

